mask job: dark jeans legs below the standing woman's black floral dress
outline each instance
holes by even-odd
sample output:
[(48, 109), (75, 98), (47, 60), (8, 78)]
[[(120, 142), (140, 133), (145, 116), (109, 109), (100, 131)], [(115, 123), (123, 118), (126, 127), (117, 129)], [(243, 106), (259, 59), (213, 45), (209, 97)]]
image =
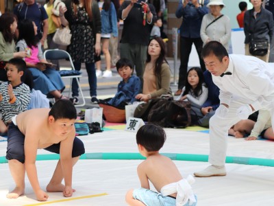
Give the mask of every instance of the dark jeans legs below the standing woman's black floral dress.
[[(81, 69), (81, 62), (73, 62), (75, 70), (79, 71)], [(90, 97), (97, 96), (97, 77), (96, 77), (96, 71), (95, 71), (95, 63), (85, 63), (86, 65), (86, 71), (88, 73), (88, 84), (90, 84)], [(78, 84), (73, 78), (72, 83), (72, 91), (73, 91), (73, 97), (79, 96), (79, 87)]]

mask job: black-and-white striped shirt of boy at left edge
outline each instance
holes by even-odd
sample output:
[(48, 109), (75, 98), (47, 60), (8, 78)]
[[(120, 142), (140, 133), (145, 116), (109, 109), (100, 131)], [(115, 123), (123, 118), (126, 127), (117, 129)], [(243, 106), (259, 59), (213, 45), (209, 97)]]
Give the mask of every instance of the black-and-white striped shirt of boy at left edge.
[(10, 102), (8, 82), (0, 84), (0, 93), (3, 95), (3, 100), (0, 102), (0, 111), (2, 113), (2, 120), (5, 124), (10, 122), (14, 115), (18, 115), (27, 110), (30, 101), (30, 90), (27, 84), (21, 83), (18, 86), (13, 87), (13, 93), (16, 98), (15, 102)]

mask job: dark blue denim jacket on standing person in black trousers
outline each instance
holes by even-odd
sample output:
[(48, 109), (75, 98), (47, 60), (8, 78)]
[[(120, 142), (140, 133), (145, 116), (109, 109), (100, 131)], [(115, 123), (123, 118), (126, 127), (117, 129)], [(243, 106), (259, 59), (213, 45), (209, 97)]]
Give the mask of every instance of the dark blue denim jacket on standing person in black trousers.
[(182, 25), (179, 28), (180, 35), (186, 38), (201, 38), (201, 21), (205, 14), (208, 14), (208, 5), (209, 0), (205, 0), (203, 5), (199, 8), (195, 8), (191, 2), (188, 2), (186, 7), (183, 7), (182, 0), (179, 0), (179, 5), (175, 12), (176, 17), (182, 18)]

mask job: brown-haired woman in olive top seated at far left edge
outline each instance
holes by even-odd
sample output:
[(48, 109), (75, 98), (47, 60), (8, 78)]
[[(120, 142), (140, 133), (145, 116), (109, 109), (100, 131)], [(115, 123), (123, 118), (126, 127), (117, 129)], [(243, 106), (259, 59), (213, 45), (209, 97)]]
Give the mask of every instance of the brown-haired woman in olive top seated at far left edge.
[(24, 58), (27, 53), (16, 52), (14, 33), (17, 28), (17, 18), (14, 14), (5, 12), (0, 16), (0, 80), (8, 81), (5, 63), (11, 58)]

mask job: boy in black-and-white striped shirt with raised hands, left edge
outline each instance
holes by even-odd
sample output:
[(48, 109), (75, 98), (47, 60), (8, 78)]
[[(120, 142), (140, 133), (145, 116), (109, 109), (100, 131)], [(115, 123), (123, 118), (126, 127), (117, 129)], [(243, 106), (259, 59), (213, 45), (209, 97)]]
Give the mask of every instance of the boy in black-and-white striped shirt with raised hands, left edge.
[(0, 133), (7, 133), (12, 117), (26, 111), (29, 105), (29, 86), (21, 82), (25, 69), (25, 61), (21, 58), (12, 58), (7, 63), (8, 82), (0, 84)]

